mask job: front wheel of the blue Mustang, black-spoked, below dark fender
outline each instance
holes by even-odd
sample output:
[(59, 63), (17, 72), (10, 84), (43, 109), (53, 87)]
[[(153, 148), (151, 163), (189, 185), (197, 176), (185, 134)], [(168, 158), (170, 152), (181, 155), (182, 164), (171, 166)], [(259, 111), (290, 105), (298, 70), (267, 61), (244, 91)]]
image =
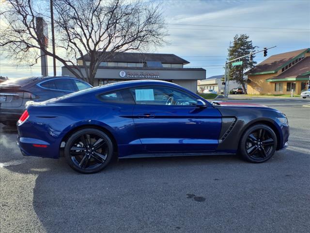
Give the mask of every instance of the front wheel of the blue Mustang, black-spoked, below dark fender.
[(276, 133), (267, 125), (257, 124), (243, 134), (239, 152), (248, 162), (263, 163), (274, 155), (277, 144)]

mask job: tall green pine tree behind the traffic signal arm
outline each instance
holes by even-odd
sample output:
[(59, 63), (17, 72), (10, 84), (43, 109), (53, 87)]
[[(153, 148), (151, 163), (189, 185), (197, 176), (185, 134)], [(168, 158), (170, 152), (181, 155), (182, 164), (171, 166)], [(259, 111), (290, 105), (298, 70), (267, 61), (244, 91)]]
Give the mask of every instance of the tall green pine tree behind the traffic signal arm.
[[(237, 34), (233, 37), (233, 46), (228, 49), (228, 60), (233, 60), (237, 57), (241, 57), (249, 54), (250, 52), (254, 52), (257, 46), (252, 45), (252, 41), (249, 40), (249, 36), (247, 34), (241, 34), (240, 36)], [(253, 58), (255, 56), (253, 55)], [(243, 79), (243, 74), (246, 70), (254, 67), (256, 62), (250, 61), (250, 57), (241, 58), (240, 61), (243, 62), (242, 65), (232, 66), (232, 63), (229, 63), (229, 80), (236, 81), (240, 83), (247, 93), (246, 89), (246, 81)], [(236, 61), (237, 62), (237, 61)]]

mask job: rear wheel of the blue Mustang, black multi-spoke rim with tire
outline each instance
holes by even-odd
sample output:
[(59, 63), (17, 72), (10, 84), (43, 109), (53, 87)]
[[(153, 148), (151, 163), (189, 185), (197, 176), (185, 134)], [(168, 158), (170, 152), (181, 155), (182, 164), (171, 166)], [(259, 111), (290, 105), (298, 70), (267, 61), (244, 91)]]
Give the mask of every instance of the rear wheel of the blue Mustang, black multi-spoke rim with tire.
[(109, 136), (92, 128), (73, 133), (64, 147), (67, 164), (85, 174), (101, 171), (108, 166), (113, 152), (113, 143)]

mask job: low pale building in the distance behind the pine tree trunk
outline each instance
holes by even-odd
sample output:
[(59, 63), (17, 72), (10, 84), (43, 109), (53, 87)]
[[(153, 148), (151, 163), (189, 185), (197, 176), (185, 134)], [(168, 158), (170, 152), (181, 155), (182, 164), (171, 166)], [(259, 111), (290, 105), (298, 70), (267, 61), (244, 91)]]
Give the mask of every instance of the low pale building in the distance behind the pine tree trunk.
[[(224, 75), (216, 75), (211, 76), (204, 80), (197, 81), (197, 91), (202, 93), (205, 89), (212, 89), (215, 90), (217, 93), (224, 93), (225, 85), (222, 83), (224, 82)], [(229, 81), (228, 88), (229, 90), (233, 88), (241, 87), (241, 84), (235, 81)]]

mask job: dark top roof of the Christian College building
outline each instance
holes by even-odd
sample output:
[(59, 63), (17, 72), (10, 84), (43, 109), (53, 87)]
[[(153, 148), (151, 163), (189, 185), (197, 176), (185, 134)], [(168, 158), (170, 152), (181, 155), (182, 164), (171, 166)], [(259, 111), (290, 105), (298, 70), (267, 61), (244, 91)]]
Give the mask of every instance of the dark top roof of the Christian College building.
[[(139, 53), (139, 52), (100, 52), (106, 53), (108, 59), (103, 62), (129, 62), (145, 63), (146, 61), (159, 61), (164, 64), (189, 64), (188, 61), (174, 54), (166, 53)], [(90, 61), (88, 54), (84, 55), (86, 61)], [(81, 60), (81, 57), (78, 58)]]

